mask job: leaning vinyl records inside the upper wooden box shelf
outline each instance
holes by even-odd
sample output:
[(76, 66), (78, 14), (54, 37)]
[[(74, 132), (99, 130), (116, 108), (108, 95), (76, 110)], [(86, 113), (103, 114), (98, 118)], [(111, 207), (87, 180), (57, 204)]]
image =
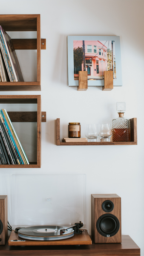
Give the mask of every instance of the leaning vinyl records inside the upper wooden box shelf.
[(12, 39), (0, 26), (0, 81), (24, 81)]

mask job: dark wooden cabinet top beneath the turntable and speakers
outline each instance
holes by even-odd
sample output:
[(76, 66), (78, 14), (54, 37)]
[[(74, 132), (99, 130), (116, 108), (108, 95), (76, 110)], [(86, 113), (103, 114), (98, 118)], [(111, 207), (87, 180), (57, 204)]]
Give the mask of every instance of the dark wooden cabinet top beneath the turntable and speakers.
[[(67, 239), (68, 240), (68, 239)], [(37, 241), (35, 241), (37, 242)], [(0, 245), (0, 256), (140, 256), (140, 248), (130, 238), (122, 235), (118, 244), (88, 244), (88, 245), (33, 245), (9, 246)]]

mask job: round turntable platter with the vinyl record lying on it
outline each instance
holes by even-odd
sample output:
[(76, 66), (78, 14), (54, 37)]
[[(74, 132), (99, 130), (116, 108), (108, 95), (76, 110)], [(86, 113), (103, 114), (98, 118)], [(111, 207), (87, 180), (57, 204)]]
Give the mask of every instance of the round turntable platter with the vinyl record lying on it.
[(23, 239), (49, 241), (49, 240), (61, 240), (74, 236), (74, 230), (72, 228), (64, 230), (67, 227), (62, 226), (32, 226), (24, 227), (18, 230), (18, 236)]

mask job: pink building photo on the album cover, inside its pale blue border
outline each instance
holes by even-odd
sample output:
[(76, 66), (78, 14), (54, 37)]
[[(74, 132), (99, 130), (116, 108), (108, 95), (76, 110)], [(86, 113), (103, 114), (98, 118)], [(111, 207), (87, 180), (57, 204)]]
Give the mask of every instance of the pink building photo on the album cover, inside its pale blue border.
[(113, 71), (116, 79), (115, 41), (73, 41), (74, 80), (79, 71), (87, 71), (88, 80), (104, 79), (104, 71)]

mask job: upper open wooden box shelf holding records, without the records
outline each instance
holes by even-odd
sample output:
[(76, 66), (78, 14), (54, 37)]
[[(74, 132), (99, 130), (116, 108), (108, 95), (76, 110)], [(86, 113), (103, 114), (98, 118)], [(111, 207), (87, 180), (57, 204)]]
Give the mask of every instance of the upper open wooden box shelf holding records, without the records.
[(0, 15), (0, 25), (9, 31), (36, 31), (36, 39), (12, 39), (14, 49), (37, 49), (37, 81), (0, 82), (0, 91), (40, 91), (40, 49), (46, 49), (46, 39), (40, 38), (40, 14)]

